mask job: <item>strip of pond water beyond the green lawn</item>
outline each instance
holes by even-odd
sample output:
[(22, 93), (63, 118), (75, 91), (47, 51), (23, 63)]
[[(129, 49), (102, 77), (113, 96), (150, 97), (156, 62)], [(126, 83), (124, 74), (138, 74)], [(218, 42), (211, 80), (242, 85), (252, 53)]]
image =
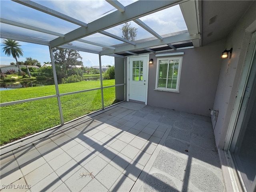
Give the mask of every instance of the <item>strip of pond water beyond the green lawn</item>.
[[(85, 78), (85, 81), (95, 81), (100, 80), (98, 77)], [(36, 81), (26, 81), (26, 82), (1, 82), (0, 91), (16, 89), (16, 88), (28, 88), (28, 87), (38, 87), (45, 85), (54, 85), (54, 80), (36, 80)]]

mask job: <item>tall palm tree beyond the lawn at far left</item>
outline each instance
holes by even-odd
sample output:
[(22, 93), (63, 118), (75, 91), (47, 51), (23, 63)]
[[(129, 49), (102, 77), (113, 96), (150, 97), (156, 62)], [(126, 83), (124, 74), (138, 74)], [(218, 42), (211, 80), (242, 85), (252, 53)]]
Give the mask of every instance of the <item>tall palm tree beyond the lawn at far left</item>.
[(20, 44), (16, 42), (15, 40), (11, 39), (4, 39), (2, 41), (3, 52), (7, 56), (12, 55), (12, 57), (16, 60), (16, 64), (18, 66), (19, 72), (21, 73), (20, 66), (17, 60), (17, 57), (20, 58), (20, 55), (23, 56), (23, 50), (20, 48)]

